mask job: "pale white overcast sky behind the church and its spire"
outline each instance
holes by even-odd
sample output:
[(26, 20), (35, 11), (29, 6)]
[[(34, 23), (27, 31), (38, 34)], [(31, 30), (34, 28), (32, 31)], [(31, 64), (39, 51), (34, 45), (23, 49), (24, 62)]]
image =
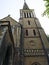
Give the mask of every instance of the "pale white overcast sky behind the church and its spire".
[[(39, 19), (46, 34), (49, 34), (49, 19), (42, 17), (45, 9), (43, 0), (26, 0), (30, 9), (35, 10), (36, 17)], [(12, 18), (19, 21), (20, 9), (23, 8), (24, 0), (0, 0), (0, 19), (11, 15)]]

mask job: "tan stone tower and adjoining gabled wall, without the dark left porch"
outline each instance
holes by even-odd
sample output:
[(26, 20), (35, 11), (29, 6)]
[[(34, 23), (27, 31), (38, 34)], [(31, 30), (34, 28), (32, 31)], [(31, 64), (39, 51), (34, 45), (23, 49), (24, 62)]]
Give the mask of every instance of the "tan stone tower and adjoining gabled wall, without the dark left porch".
[(19, 23), (10, 16), (1, 21), (10, 21), (11, 24), (15, 46), (13, 65), (49, 65), (49, 42), (34, 9), (29, 9), (24, 2)]

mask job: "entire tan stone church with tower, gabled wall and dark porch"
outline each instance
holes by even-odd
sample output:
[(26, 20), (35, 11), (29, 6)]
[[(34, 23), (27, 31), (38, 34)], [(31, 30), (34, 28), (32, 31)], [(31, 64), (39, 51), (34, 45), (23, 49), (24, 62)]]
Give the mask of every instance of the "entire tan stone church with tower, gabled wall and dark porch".
[(19, 22), (0, 19), (0, 65), (49, 65), (47, 36), (25, 1)]

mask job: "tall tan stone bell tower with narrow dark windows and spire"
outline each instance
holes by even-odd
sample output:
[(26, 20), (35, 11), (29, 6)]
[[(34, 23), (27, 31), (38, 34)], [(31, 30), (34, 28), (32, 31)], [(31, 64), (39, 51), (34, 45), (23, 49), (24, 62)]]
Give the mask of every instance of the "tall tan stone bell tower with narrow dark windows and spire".
[(46, 34), (36, 18), (34, 9), (29, 9), (24, 2), (20, 9), (19, 23), (23, 26), (24, 65), (49, 65), (49, 43)]

